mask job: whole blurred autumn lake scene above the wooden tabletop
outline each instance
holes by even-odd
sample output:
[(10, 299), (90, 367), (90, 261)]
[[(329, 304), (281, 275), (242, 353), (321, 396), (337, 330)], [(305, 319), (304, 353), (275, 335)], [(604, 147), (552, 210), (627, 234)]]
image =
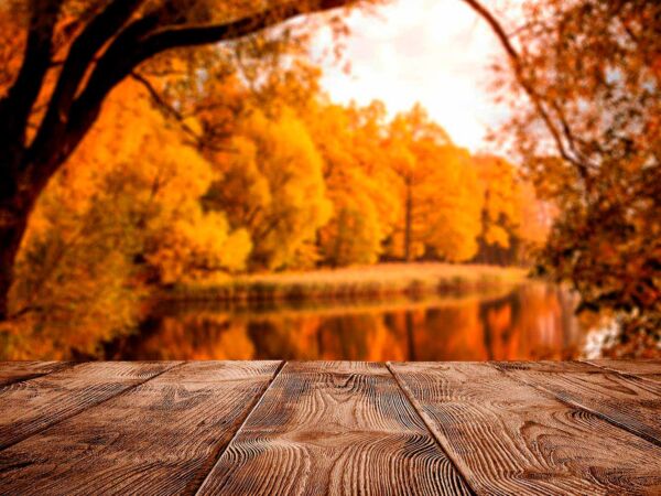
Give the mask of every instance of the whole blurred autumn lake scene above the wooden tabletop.
[(661, 356), (661, 6), (0, 0), (0, 359)]

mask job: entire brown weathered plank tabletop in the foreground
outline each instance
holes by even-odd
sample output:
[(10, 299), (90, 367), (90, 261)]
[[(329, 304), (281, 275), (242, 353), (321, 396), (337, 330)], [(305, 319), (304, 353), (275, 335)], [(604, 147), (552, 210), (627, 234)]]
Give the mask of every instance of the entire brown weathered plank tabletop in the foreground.
[(661, 360), (0, 363), (0, 494), (661, 495)]

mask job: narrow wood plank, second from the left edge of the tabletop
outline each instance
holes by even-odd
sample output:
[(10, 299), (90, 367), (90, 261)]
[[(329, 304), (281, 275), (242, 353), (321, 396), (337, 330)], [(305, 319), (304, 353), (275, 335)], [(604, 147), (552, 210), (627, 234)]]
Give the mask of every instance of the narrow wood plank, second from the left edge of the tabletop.
[(0, 389), (0, 450), (180, 363), (84, 363)]

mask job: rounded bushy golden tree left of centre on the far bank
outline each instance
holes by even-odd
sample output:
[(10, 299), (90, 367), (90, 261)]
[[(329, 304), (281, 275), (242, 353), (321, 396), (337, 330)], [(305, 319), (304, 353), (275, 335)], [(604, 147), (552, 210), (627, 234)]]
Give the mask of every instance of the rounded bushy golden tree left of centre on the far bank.
[(230, 225), (252, 241), (252, 269), (310, 267), (317, 229), (329, 218), (322, 158), (291, 110), (269, 119), (253, 110), (217, 153), (221, 179), (205, 196), (208, 208), (227, 212)]

